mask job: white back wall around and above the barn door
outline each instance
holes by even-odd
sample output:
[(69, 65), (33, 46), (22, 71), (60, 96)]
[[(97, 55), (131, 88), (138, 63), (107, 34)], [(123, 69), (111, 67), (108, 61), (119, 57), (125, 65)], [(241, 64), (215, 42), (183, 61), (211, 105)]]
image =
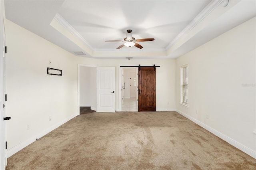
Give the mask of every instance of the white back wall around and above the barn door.
[[(175, 111), (175, 65), (174, 59), (101, 59), (100, 67), (116, 67), (116, 111), (119, 111), (119, 92), (121, 82), (120, 65), (160, 65), (156, 67), (156, 111)], [(120, 80), (120, 82), (119, 82)], [(120, 103), (121, 105), (121, 103)]]

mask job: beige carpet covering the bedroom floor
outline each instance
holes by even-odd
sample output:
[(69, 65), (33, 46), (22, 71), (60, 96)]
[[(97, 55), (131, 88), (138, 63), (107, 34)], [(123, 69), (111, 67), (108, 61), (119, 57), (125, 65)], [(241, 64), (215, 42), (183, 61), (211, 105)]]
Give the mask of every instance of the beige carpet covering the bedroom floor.
[(7, 170), (255, 170), (256, 160), (176, 112), (79, 115)]

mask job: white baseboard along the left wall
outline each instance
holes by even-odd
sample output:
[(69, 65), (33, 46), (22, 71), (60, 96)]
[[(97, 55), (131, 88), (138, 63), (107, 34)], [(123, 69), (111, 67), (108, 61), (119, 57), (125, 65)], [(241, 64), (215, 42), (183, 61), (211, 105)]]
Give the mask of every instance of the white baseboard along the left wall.
[(7, 158), (9, 158), (13, 154), (17, 153), (18, 151), (22, 150), (23, 148), (25, 148), (29, 144), (33, 143), (34, 141), (36, 141), (36, 138), (41, 138), (42, 136), (46, 135), (47, 133), (49, 133), (52, 130), (56, 129), (57, 127), (63, 125), (64, 123), (66, 123), (70, 119), (73, 119), (76, 116), (78, 116), (78, 113), (71, 115), (70, 117), (60, 121), (59, 123), (57, 123), (55, 125), (52, 125), (51, 127), (47, 128), (46, 130), (44, 130), (44, 131), (40, 132), (39, 134), (33, 136), (32, 138), (29, 138), (28, 140), (25, 140), (24, 142), (14, 146), (13, 148), (10, 148), (9, 150), (7, 150), (7, 153), (6, 153)]

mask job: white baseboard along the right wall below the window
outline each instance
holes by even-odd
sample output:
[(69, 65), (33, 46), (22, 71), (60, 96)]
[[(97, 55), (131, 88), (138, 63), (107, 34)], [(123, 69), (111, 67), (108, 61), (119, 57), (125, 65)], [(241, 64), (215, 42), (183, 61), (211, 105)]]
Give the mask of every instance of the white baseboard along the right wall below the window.
[(212, 134), (218, 136), (219, 138), (221, 138), (222, 140), (225, 140), (226, 142), (228, 142), (229, 144), (231, 144), (232, 146), (238, 148), (239, 150), (242, 150), (244, 153), (252, 156), (252, 158), (256, 159), (256, 152), (254, 150), (251, 150), (250, 148), (244, 146), (243, 144), (240, 144), (239, 142), (237, 142), (236, 140), (233, 140), (232, 138), (218, 132), (217, 130), (215, 130), (212, 127), (209, 127), (208, 125), (205, 125), (204, 123), (198, 121), (197, 119), (187, 115), (186, 113), (176, 109), (176, 112), (180, 113), (180, 115), (188, 118), (190, 121), (196, 123), (197, 125), (199, 125), (202, 128), (205, 128), (206, 130), (208, 130), (209, 132), (211, 132)]

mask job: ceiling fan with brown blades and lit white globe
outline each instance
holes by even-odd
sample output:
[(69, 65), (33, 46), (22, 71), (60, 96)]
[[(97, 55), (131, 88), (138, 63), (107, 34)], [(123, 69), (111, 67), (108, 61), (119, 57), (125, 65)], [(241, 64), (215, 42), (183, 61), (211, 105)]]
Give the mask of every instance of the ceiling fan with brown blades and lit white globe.
[(117, 47), (116, 49), (120, 49), (124, 46), (126, 46), (126, 47), (135, 46), (137, 48), (142, 49), (143, 47), (136, 42), (148, 42), (148, 41), (154, 41), (154, 40), (155, 40), (154, 38), (135, 39), (132, 37), (132, 30), (127, 30), (126, 38), (124, 38), (124, 40), (106, 40), (105, 42), (125, 42), (122, 45), (120, 45), (119, 47)]

